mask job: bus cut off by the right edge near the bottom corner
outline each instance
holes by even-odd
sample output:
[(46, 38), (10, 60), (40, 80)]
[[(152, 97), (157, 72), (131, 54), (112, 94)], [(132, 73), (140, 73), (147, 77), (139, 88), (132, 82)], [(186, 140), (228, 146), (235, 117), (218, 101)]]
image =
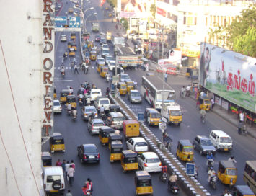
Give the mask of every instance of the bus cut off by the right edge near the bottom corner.
[(256, 194), (256, 160), (246, 161), (244, 167), (244, 182)]

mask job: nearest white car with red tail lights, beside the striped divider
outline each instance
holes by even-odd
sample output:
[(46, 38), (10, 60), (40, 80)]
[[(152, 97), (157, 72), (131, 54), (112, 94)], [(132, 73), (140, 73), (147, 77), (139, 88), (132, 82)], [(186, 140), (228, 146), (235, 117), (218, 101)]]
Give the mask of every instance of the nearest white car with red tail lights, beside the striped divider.
[(141, 153), (138, 156), (138, 166), (146, 172), (161, 172), (162, 163), (154, 152)]

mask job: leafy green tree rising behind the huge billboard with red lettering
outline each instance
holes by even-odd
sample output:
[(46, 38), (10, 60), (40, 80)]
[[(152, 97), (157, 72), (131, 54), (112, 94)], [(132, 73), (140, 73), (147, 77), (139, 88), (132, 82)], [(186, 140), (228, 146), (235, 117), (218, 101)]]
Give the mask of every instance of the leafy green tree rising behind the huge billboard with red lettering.
[(210, 37), (218, 37), (237, 53), (256, 57), (256, 4), (244, 9), (228, 27), (210, 30)]

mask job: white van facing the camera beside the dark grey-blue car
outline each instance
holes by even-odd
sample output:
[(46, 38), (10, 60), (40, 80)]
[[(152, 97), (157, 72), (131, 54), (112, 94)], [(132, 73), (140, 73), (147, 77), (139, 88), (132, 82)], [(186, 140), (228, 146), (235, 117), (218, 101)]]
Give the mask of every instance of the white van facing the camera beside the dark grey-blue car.
[(217, 151), (231, 151), (233, 148), (231, 137), (222, 130), (212, 130), (209, 138)]

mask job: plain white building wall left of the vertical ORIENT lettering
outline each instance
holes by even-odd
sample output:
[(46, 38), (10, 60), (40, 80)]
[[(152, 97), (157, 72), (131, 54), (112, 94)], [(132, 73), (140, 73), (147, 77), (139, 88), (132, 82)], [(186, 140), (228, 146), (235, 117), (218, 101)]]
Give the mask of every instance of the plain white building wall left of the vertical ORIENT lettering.
[[(20, 195), (20, 191), (21, 195), (35, 196), (39, 195), (37, 187), (42, 188), (42, 10), (43, 1), (0, 1), (0, 195)], [(27, 19), (27, 12), (31, 12), (32, 19)], [(28, 36), (32, 36), (31, 44)]]

